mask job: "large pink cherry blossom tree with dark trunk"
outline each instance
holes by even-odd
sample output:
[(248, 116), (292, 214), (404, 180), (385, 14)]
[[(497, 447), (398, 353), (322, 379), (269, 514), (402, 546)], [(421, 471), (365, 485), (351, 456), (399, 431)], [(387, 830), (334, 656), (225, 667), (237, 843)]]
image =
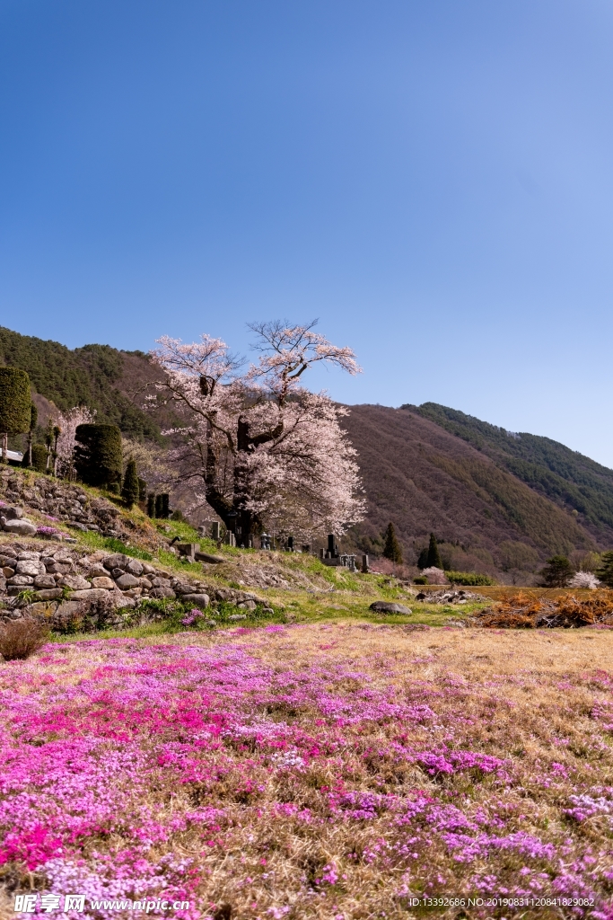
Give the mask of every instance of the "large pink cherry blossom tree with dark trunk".
[(262, 528), (342, 534), (364, 516), (356, 452), (339, 421), (347, 409), (302, 385), (323, 362), (357, 374), (353, 351), (308, 326), (259, 323), (246, 371), (221, 339), (164, 336), (152, 352), (165, 371), (158, 399), (182, 424), (171, 462), (246, 545)]

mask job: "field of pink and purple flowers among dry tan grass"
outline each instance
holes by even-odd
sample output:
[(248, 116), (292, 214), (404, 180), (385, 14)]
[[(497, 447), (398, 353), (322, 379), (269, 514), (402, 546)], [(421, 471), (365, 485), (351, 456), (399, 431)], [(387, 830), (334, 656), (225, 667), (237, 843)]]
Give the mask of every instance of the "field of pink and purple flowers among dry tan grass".
[(0, 913), (613, 920), (612, 641), (346, 621), (0, 664)]

